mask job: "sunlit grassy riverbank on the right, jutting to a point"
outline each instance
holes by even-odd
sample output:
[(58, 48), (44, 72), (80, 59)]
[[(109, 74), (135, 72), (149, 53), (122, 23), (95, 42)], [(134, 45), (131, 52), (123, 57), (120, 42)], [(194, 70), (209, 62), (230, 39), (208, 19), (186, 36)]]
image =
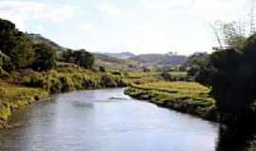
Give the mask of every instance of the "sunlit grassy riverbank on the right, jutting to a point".
[(166, 81), (132, 85), (125, 90), (131, 97), (216, 122), (219, 117), (209, 92), (195, 82)]

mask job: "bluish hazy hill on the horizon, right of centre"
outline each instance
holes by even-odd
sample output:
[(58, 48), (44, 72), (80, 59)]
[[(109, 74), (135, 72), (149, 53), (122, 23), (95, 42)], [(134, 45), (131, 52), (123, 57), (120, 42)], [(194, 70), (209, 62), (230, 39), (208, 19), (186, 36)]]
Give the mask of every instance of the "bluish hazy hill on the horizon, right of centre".
[(180, 55), (168, 55), (168, 54), (143, 54), (131, 58), (141, 63), (150, 63), (155, 65), (172, 64), (178, 65), (183, 64), (187, 61), (186, 56)]

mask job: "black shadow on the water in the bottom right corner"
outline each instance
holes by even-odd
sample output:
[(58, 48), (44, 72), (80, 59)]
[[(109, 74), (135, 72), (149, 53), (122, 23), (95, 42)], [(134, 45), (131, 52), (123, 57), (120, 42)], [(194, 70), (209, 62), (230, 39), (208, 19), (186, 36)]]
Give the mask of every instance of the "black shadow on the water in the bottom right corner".
[(256, 130), (220, 126), (216, 151), (255, 151)]

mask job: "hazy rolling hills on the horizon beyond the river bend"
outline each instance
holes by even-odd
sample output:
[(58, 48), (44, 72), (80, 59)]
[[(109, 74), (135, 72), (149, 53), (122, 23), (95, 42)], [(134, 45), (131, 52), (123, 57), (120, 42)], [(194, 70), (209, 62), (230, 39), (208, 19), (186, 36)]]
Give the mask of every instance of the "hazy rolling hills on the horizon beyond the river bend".
[(96, 54), (96, 64), (107, 66), (117, 70), (143, 70), (163, 69), (167, 66), (177, 66), (187, 61), (186, 56), (170, 54), (143, 54), (134, 55), (129, 52), (123, 53), (99, 53)]

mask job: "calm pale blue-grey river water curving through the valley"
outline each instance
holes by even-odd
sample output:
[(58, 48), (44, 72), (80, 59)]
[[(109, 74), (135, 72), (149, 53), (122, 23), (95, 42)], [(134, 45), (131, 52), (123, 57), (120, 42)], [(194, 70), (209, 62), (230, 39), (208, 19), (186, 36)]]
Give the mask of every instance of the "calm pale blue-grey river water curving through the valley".
[(214, 151), (218, 125), (137, 101), (123, 89), (69, 92), (13, 116), (3, 151)]

